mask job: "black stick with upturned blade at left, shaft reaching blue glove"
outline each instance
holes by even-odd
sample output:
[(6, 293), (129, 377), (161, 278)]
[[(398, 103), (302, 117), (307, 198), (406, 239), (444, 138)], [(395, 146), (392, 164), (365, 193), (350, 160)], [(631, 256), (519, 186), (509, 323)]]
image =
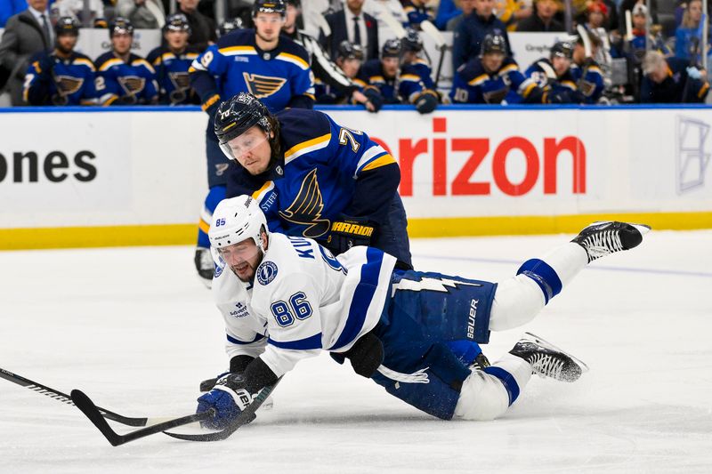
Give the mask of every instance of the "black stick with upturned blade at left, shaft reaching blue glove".
[(149, 427), (142, 428), (141, 430), (131, 431), (125, 435), (119, 435), (116, 431), (111, 429), (109, 423), (106, 422), (106, 419), (104, 419), (101, 415), (99, 408), (93, 404), (92, 399), (87, 397), (83, 391), (72, 390), (71, 396), (74, 405), (76, 405), (77, 408), (79, 408), (82, 413), (86, 415), (89, 421), (101, 431), (101, 434), (104, 435), (104, 438), (107, 438), (109, 443), (111, 443), (111, 446), (124, 445), (130, 441), (134, 441), (134, 439), (145, 438), (147, 436), (160, 433), (163, 430), (170, 430), (184, 424), (202, 422), (212, 418), (215, 414), (214, 409), (211, 408), (206, 412), (189, 414), (180, 418), (174, 418), (173, 420), (154, 424)]

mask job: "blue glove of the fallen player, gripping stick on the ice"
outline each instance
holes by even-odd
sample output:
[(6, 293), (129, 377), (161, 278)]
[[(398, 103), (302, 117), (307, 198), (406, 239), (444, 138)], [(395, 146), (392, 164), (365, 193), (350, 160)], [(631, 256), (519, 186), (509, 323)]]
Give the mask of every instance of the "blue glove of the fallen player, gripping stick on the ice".
[[(230, 373), (221, 375), (215, 382), (213, 390), (198, 398), (196, 413), (205, 412), (210, 408), (215, 410), (214, 418), (201, 422), (201, 425), (214, 430), (223, 430), (227, 427), (252, 403), (253, 397), (244, 387), (245, 378), (242, 375)], [(253, 415), (252, 420), (255, 417)]]

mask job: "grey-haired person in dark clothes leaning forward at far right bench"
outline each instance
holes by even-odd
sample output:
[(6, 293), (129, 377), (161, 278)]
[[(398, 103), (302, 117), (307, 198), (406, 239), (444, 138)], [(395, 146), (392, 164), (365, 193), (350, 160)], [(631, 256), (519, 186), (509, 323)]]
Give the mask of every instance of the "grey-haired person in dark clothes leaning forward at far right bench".
[(680, 58), (649, 51), (643, 59), (641, 102), (700, 103), (709, 92), (706, 72)]

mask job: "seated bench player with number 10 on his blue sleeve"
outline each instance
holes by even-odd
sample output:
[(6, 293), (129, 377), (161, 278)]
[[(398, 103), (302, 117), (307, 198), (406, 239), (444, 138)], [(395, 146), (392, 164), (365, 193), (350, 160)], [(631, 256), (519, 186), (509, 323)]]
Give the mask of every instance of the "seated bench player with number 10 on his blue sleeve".
[(546, 93), (507, 56), (505, 37), (488, 35), (482, 40), (480, 56), (457, 68), (450, 99), (470, 104), (541, 104), (546, 103)]

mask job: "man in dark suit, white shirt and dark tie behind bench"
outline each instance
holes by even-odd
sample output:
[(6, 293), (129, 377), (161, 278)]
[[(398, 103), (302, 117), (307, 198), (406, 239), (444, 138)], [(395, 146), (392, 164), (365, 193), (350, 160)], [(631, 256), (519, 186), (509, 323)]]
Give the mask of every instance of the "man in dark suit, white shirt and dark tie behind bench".
[(331, 60), (336, 59), (339, 44), (344, 40), (363, 46), (366, 59), (378, 58), (378, 23), (374, 17), (363, 12), (363, 2), (364, 0), (345, 0), (343, 10), (325, 17), (331, 35), (325, 36), (322, 30), (319, 41), (329, 52)]

